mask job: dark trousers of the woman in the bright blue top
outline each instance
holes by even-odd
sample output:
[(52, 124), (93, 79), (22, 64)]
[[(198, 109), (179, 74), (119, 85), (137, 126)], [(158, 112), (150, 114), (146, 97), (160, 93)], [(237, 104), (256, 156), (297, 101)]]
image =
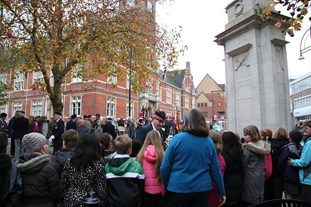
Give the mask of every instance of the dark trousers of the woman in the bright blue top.
[(206, 207), (209, 191), (198, 193), (170, 192), (169, 207)]

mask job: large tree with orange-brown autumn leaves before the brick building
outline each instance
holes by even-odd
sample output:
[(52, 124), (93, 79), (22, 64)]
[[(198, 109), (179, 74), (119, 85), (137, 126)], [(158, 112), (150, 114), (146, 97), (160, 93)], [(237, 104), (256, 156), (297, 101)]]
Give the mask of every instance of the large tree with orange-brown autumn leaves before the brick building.
[(33, 87), (62, 110), (65, 78), (104, 74), (122, 79), (131, 56), (131, 83), (139, 91), (160, 67), (156, 59), (169, 70), (185, 48), (176, 48), (180, 34), (160, 28), (146, 1), (129, 2), (134, 1), (0, 0), (0, 70), (41, 72), (44, 81)]

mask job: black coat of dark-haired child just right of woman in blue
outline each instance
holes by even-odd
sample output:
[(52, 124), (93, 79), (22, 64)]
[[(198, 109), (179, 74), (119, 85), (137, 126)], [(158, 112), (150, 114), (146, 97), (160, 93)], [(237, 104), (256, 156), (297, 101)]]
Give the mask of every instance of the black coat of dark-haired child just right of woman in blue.
[(228, 201), (237, 201), (242, 197), (243, 150), (229, 149), (223, 154), (226, 169), (223, 178)]

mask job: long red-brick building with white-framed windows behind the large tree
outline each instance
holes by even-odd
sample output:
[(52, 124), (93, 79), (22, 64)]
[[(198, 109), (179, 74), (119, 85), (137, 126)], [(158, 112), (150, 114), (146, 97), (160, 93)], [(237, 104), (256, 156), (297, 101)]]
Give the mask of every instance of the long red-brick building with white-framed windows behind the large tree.
[[(48, 74), (53, 86), (53, 75), (51, 72)], [(139, 94), (131, 91), (131, 117), (137, 118), (142, 106), (148, 116), (153, 115), (158, 107), (167, 115), (176, 116), (175, 105), (182, 109), (181, 113), (196, 106), (189, 62), (186, 69), (168, 72), (166, 80), (162, 78), (162, 74), (161, 70), (153, 72), (149, 87), (142, 86), (146, 89)], [(29, 115), (52, 117), (53, 108), (48, 95), (41, 90), (32, 89), (33, 83), (40, 78), (42, 77), (37, 72), (32, 72), (27, 77), (19, 74), (15, 79), (12, 79), (10, 74), (0, 73), (0, 81), (10, 83), (12, 79), (15, 85), (14, 90), (8, 92), (8, 103), (1, 106), (0, 111), (6, 112), (8, 118), (12, 117), (16, 110), (24, 110), (27, 117)], [(112, 88), (111, 83), (117, 86)], [(94, 117), (99, 113), (102, 117), (127, 118), (129, 117), (129, 78), (124, 77), (124, 81), (113, 77), (106, 78), (104, 75), (88, 81), (77, 77), (71, 78), (62, 85), (62, 101), (64, 103), (62, 114), (65, 120), (73, 113), (78, 116)]]

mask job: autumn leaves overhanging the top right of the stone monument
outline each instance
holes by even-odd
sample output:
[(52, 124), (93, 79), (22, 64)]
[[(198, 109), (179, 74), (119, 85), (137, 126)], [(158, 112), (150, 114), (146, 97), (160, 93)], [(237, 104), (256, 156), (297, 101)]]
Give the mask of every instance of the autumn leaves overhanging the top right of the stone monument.
[[(283, 28), (283, 33), (289, 34), (294, 37), (294, 32), (301, 30), (301, 22), (308, 14), (308, 9), (311, 6), (310, 0), (275, 0), (267, 3), (262, 10), (261, 19), (270, 16), (272, 12), (276, 12), (273, 6), (281, 5), (286, 8), (290, 18), (279, 19), (275, 23), (276, 28)], [(281, 14), (281, 11), (277, 11)], [(311, 17), (310, 17), (311, 18)], [(309, 20), (311, 21), (311, 19)]]

